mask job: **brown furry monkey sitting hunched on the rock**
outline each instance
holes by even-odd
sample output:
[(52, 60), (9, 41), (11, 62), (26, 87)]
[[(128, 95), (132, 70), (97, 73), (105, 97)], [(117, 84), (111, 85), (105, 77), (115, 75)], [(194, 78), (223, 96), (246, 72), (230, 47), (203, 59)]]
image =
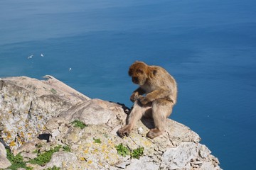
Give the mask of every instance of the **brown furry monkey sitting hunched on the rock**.
[(117, 130), (117, 135), (129, 136), (134, 125), (143, 115), (151, 115), (154, 120), (154, 128), (149, 130), (146, 137), (153, 139), (163, 135), (166, 120), (171, 115), (177, 100), (176, 80), (163, 67), (147, 65), (139, 61), (129, 67), (128, 74), (139, 88), (130, 96), (134, 106), (128, 115), (127, 125)]

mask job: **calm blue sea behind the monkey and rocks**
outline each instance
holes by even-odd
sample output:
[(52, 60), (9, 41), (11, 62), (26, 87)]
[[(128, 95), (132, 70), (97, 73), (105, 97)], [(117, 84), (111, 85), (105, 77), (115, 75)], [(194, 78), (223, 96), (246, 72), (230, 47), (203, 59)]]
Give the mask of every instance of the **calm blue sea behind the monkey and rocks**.
[(178, 82), (171, 119), (223, 169), (255, 169), (255, 0), (0, 0), (0, 77), (46, 74), (132, 106), (136, 60)]

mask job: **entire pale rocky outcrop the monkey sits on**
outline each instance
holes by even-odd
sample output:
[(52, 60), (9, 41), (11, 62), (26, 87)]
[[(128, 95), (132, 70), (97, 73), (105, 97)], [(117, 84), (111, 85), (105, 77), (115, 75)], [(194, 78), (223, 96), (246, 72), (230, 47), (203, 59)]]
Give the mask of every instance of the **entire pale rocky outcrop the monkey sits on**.
[[(40, 152), (55, 146), (70, 147), (68, 151), (55, 152), (47, 164), (27, 163), (28, 166), (34, 169), (52, 166), (112, 170), (220, 169), (218, 159), (199, 143), (198, 134), (185, 125), (168, 120), (164, 135), (151, 140), (146, 133), (154, 122), (142, 118), (130, 136), (122, 139), (116, 132), (125, 123), (127, 108), (90, 99), (54, 77), (47, 77), (46, 81), (28, 77), (0, 79), (0, 135), (14, 154), (21, 153), (28, 161), (35, 157), (33, 151), (38, 146)], [(76, 127), (74, 120), (87, 127)], [(139, 159), (129, 154), (122, 157), (117, 153), (119, 144), (129, 152), (139, 147), (144, 152)]]

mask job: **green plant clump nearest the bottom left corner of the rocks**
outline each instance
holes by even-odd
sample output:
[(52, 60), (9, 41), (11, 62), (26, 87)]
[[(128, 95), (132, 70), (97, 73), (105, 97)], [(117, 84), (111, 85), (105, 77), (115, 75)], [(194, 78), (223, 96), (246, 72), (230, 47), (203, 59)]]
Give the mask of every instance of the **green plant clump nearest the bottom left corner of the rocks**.
[(11, 153), (11, 149), (6, 148), (6, 153), (7, 153), (7, 159), (11, 162), (11, 166), (8, 167), (8, 169), (16, 170), (18, 168), (23, 168), (26, 170), (31, 170), (33, 168), (27, 167), (26, 162), (23, 162), (23, 157), (21, 154), (17, 154), (14, 156), (14, 154)]

